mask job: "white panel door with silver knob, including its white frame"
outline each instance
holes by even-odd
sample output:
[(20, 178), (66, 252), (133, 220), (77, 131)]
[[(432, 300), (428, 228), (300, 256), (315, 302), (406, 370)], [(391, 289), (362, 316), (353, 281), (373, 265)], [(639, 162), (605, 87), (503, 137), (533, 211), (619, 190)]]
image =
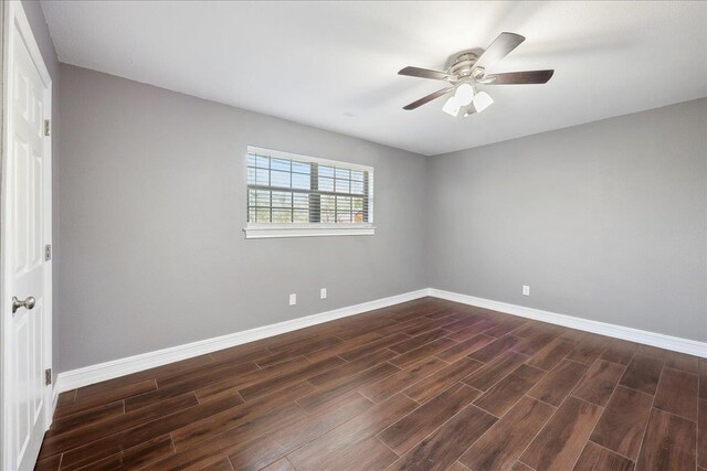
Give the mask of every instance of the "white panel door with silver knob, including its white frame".
[(6, 3), (2, 168), (3, 469), (33, 469), (51, 420), (51, 79), (19, 2)]

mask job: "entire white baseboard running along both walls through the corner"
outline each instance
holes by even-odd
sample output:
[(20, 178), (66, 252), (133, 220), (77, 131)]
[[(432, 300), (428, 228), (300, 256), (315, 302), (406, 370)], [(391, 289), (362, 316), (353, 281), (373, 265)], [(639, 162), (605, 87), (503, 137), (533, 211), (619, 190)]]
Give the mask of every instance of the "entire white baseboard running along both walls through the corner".
[(203, 355), (207, 353), (215, 352), (217, 350), (228, 349), (230, 346), (235, 346), (247, 342), (254, 342), (256, 340), (278, 335), (281, 333), (292, 332), (294, 330), (320, 324), (323, 322), (328, 322), (349, 315), (360, 314), (366, 311), (372, 311), (374, 309), (386, 308), (388, 306), (411, 301), (413, 299), (423, 298), (425, 296), (447, 299), (450, 301), (476, 306), (479, 308), (505, 312), (513, 315), (519, 315), (521, 318), (549, 322), (552, 324), (563, 325), (587, 332), (593, 332), (600, 335), (644, 343), (646, 345), (687, 353), (695, 356), (707, 357), (707, 343), (705, 342), (697, 342), (694, 340), (680, 339), (677, 336), (664, 335), (605, 322), (591, 321), (589, 319), (581, 319), (572, 315), (558, 314), (556, 312), (526, 308), (524, 306), (510, 304), (507, 302), (494, 301), (468, 295), (460, 295), (456, 292), (444, 291), (436, 288), (425, 288), (418, 291), (392, 296), (390, 298), (378, 299), (374, 301), (349, 306), (333, 311), (321, 312), (319, 314), (307, 315), (305, 318), (293, 319), (289, 321), (278, 322), (276, 324), (255, 328), (242, 332), (235, 332), (228, 335), (201, 340), (198, 342), (187, 343), (184, 345), (172, 346), (169, 349), (143, 353), (140, 355), (114, 360), (110, 362), (99, 363), (97, 365), (91, 365), (83, 368), (60, 373), (56, 378), (56, 386), (54, 387), (54, 400), (52, 406), (55, 406), (59, 394), (65, 390), (71, 390), (77, 387), (99, 383), (102, 381), (128, 375), (130, 373), (140, 372), (144, 370), (152, 368), (155, 366), (161, 366), (168, 363), (178, 362), (180, 360)]

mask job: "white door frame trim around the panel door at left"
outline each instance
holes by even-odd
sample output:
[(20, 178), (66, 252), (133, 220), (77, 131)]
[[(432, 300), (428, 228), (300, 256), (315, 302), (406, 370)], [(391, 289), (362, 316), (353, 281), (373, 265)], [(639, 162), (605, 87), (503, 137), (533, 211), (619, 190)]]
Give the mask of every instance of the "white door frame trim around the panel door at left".
[[(12, 421), (8, 417), (11, 405), (12, 384), (11, 378), (14, 374), (12, 371), (12, 347), (10, 338), (10, 322), (12, 320), (11, 299), (12, 299), (12, 278), (10, 277), (11, 266), (8, 263), (8, 237), (11, 237), (11, 231), (8, 227), (8, 197), (6, 194), (7, 184), (7, 160), (9, 149), (11, 149), (11, 114), (12, 100), (9, 96), (9, 77), (12, 72), (12, 61), (10, 57), (10, 43), (12, 41), (11, 33), (17, 28), (24, 38), (30, 56), (34, 62), (42, 82), (45, 86), (44, 92), (44, 117), (52, 122), (52, 77), (44, 64), (41, 51), (36, 40), (30, 28), (29, 20), (24, 13), (22, 2), (19, 0), (3, 1), (1, 13), (1, 36), (2, 36), (2, 147), (1, 147), (1, 167), (0, 167), (0, 469), (9, 469), (11, 460), (14, 458), (10, 443), (14, 442), (14, 433), (11, 430)], [(52, 244), (52, 137), (44, 137), (44, 167), (43, 185), (44, 185), (44, 244)], [(52, 257), (53, 258), (53, 257)], [(43, 332), (43, 351), (44, 358), (42, 364), (44, 368), (52, 368), (52, 260), (44, 261), (44, 309), (45, 309), (45, 330)], [(52, 368), (53, 372), (53, 368)], [(53, 383), (53, 381), (52, 381)], [(52, 424), (54, 413), (54, 394), (53, 384), (44, 387), (44, 425), (46, 429)], [(39, 451), (39, 450), (38, 450)]]

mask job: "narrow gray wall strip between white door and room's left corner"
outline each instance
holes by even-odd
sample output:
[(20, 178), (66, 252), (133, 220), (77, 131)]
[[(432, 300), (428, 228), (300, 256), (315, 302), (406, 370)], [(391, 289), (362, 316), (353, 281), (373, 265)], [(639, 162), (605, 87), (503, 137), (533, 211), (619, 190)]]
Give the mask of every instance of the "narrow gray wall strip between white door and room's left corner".
[[(36, 40), (36, 43), (40, 46), (40, 52), (42, 53), (42, 58), (44, 60), (44, 64), (49, 69), (49, 74), (52, 77), (52, 200), (54, 201), (53, 210), (53, 221), (52, 221), (52, 243), (54, 246), (53, 251), (53, 260), (52, 260), (52, 270), (54, 277), (54, 292), (53, 292), (53, 325), (52, 325), (52, 356), (54, 365), (59, 362), (60, 355), (60, 339), (59, 339), (59, 330), (61, 325), (61, 309), (59, 301), (59, 258), (60, 251), (56, 250), (59, 246), (59, 221), (60, 221), (60, 207), (56, 202), (59, 201), (59, 88), (60, 88), (60, 64), (56, 58), (56, 52), (54, 50), (54, 43), (52, 38), (49, 34), (49, 26), (46, 25), (46, 20), (44, 19), (44, 13), (42, 12), (42, 7), (39, 1), (28, 1), (22, 0), (22, 7), (24, 8), (24, 13), (27, 14), (28, 21), (30, 23), (30, 28), (32, 29), (32, 34)], [(56, 376), (56, 367), (54, 367), (54, 376)]]

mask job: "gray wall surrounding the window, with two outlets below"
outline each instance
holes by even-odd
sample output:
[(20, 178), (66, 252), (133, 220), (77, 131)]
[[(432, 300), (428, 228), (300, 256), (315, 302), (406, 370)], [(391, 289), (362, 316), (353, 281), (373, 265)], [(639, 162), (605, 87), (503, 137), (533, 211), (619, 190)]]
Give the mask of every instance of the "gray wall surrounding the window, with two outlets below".
[[(60, 371), (426, 287), (425, 158), (61, 74)], [(373, 165), (377, 234), (245, 240), (247, 144)]]

